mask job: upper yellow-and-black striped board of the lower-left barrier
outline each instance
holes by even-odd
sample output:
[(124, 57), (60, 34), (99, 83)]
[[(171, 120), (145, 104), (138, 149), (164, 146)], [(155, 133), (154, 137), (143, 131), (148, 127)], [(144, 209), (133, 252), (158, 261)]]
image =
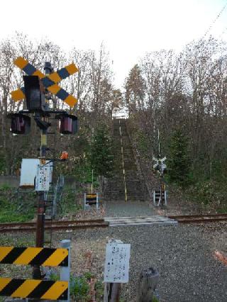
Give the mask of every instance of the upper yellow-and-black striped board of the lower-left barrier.
[(67, 267), (68, 250), (46, 247), (0, 247), (0, 264)]

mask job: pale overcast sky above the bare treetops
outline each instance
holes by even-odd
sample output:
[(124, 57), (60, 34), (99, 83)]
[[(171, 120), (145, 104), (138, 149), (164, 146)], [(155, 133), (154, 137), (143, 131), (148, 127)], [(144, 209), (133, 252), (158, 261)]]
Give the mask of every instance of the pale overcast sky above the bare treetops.
[[(145, 52), (201, 38), (226, 0), (1, 0), (1, 38), (17, 30), (63, 49), (109, 50), (115, 83)], [(209, 31), (227, 40), (227, 7)]]

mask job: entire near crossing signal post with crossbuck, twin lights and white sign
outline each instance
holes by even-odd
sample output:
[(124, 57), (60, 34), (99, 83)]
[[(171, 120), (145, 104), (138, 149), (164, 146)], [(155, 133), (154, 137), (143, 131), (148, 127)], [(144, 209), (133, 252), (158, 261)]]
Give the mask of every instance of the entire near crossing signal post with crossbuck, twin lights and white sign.
[[(28, 134), (31, 128), (31, 118), (29, 114), (33, 113), (33, 118), (36, 125), (40, 128), (41, 143), (40, 143), (40, 164), (38, 165), (35, 191), (38, 193), (37, 204), (37, 220), (36, 220), (36, 247), (44, 245), (44, 230), (45, 230), (45, 191), (49, 190), (49, 174), (50, 170), (46, 164), (47, 151), (47, 134), (50, 123), (48, 118), (51, 114), (55, 114), (55, 119), (59, 121), (60, 133), (75, 134), (77, 133), (77, 117), (68, 114), (67, 111), (52, 111), (48, 106), (46, 94), (55, 94), (58, 99), (62, 99), (65, 104), (73, 107), (77, 104), (77, 99), (59, 86), (62, 79), (70, 77), (70, 75), (78, 71), (77, 67), (72, 63), (62, 69), (53, 72), (50, 62), (45, 62), (45, 74), (36, 69), (23, 57), (17, 57), (14, 64), (19, 67), (27, 75), (23, 76), (24, 87), (11, 92), (13, 101), (26, 100), (27, 110), (19, 111), (18, 113), (9, 113), (11, 118), (11, 133)], [(67, 153), (67, 152), (65, 152)], [(60, 160), (66, 160), (66, 157), (61, 157)], [(53, 159), (54, 161), (56, 159)], [(40, 267), (33, 267), (33, 278), (41, 279)]]

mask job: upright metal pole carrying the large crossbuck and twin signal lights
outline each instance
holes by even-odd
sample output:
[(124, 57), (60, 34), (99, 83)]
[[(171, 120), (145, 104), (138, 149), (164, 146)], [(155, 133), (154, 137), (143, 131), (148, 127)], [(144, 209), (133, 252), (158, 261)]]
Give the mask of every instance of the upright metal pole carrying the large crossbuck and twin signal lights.
[[(51, 66), (49, 62), (45, 62), (44, 70), (45, 70), (45, 74), (50, 74)], [(46, 147), (47, 147), (47, 130), (41, 130), (40, 164), (45, 164)], [(44, 191), (40, 191), (38, 192), (35, 247), (43, 247), (44, 230), (45, 230), (45, 194)], [(39, 266), (33, 267), (33, 278), (34, 279), (42, 278), (42, 274)]]

